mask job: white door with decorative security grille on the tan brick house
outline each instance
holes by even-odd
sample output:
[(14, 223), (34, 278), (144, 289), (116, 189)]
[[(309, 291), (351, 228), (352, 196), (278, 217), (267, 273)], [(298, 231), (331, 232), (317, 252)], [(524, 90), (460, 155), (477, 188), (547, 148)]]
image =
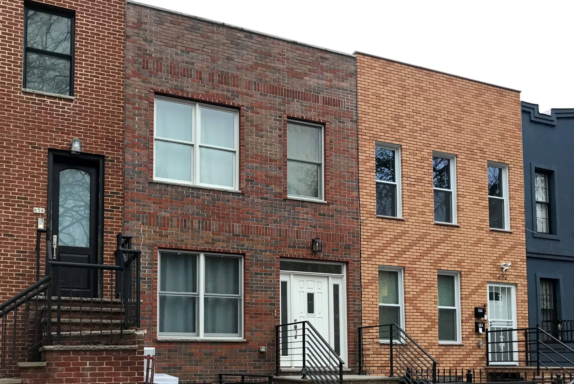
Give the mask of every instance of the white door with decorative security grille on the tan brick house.
[[(488, 284), (488, 361), (491, 365), (518, 365), (515, 287)], [(494, 332), (492, 332), (494, 331)], [(513, 343), (514, 342), (514, 343)], [(491, 344), (492, 343), (492, 344)]]

